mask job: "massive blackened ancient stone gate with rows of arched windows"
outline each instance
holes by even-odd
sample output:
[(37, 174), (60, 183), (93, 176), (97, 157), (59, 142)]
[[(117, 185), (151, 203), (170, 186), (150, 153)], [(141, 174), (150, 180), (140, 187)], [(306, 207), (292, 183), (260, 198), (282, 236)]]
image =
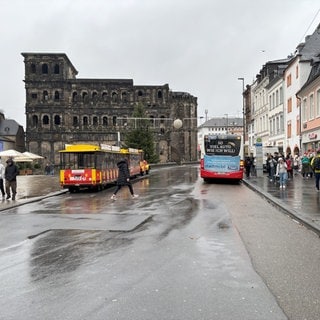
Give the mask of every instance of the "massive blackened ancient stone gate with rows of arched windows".
[[(161, 162), (197, 160), (197, 98), (168, 84), (134, 85), (131, 79), (77, 79), (64, 53), (22, 53), (25, 64), (26, 148), (59, 163), (65, 144), (120, 144), (146, 110)], [(181, 119), (182, 127), (173, 126)]]

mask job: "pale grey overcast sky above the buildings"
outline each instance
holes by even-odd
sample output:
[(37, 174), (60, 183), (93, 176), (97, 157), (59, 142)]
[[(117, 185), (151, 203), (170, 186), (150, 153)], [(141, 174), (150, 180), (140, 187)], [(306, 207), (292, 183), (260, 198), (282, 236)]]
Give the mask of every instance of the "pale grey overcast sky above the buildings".
[(242, 82), (294, 53), (319, 0), (0, 0), (0, 109), (25, 128), (21, 52), (66, 53), (77, 78), (169, 84), (198, 116), (242, 116)]

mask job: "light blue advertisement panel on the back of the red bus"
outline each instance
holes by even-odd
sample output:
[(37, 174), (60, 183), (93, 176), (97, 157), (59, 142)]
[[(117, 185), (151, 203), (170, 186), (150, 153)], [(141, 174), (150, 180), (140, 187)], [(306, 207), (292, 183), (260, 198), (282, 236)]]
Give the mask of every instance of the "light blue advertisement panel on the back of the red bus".
[(240, 156), (204, 155), (204, 170), (214, 172), (232, 172), (240, 170)]

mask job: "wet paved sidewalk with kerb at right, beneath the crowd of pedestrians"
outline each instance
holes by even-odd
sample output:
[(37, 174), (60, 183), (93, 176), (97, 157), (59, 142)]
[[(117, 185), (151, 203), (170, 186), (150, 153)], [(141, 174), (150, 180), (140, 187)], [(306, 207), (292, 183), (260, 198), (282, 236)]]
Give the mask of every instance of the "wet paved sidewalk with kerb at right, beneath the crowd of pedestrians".
[(244, 179), (243, 183), (320, 235), (320, 193), (314, 178), (304, 179), (297, 174), (288, 181), (286, 189), (279, 189), (279, 184), (270, 182), (266, 174)]

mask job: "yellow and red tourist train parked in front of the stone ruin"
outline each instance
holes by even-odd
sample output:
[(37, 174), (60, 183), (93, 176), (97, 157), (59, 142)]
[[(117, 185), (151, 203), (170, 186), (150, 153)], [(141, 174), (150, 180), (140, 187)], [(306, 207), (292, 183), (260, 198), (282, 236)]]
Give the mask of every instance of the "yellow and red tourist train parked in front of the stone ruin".
[(115, 183), (117, 163), (127, 159), (130, 177), (148, 174), (150, 166), (138, 149), (110, 145), (72, 144), (60, 150), (60, 185), (70, 192), (80, 189), (102, 190)]

